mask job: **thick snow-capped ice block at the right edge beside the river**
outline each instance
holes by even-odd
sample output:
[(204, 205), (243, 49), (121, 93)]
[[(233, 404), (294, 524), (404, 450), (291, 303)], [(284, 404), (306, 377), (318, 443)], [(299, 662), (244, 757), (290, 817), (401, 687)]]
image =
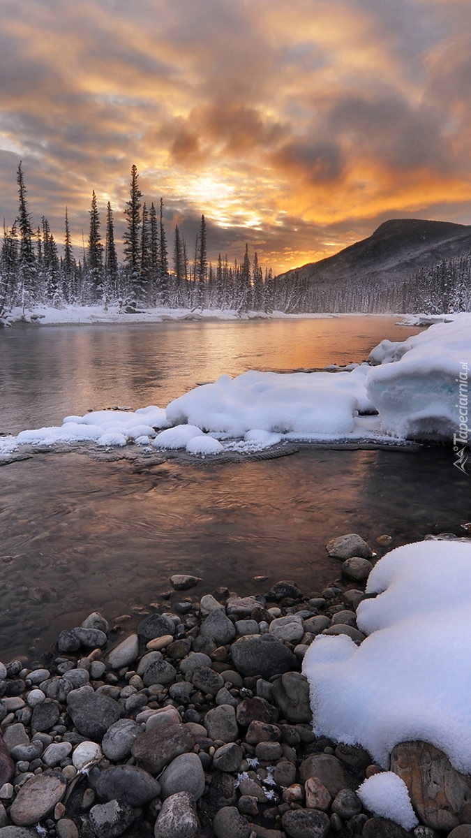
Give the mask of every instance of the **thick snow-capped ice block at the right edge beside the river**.
[(366, 392), (380, 412), (383, 431), (452, 442), (461, 429), (463, 442), (468, 441), (471, 314), (436, 323), (401, 343), (382, 340), (370, 363), (380, 365), (370, 370)]

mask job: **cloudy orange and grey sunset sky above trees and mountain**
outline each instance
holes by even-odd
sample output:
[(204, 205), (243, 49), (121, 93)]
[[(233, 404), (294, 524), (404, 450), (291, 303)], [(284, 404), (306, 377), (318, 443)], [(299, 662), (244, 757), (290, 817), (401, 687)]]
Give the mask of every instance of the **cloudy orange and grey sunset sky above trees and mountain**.
[[(0, 0), (0, 213), (76, 246), (130, 169), (275, 272), (390, 218), (471, 223), (469, 0)], [(80, 255), (80, 254), (79, 254)]]

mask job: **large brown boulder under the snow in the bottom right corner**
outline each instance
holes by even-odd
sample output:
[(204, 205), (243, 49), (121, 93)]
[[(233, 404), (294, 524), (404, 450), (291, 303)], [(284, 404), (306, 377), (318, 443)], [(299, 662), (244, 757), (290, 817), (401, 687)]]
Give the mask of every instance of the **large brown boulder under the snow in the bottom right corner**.
[(453, 830), (471, 822), (471, 777), (428, 742), (401, 742), (391, 753), (391, 771), (404, 780), (411, 804), (426, 826)]

